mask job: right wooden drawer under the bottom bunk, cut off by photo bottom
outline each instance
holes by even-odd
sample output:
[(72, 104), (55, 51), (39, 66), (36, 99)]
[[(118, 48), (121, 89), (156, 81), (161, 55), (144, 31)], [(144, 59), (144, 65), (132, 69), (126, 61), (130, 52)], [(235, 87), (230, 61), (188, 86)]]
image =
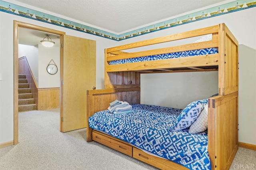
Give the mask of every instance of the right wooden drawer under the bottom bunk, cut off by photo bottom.
[(146, 152), (143, 152), (142, 150), (136, 147), (133, 147), (132, 157), (141, 160), (142, 162), (145, 162), (147, 164), (150, 164), (156, 168), (159, 168), (161, 170), (188, 170), (188, 168), (186, 168), (185, 166), (182, 166), (180, 164), (177, 164), (164, 158), (147, 154)]

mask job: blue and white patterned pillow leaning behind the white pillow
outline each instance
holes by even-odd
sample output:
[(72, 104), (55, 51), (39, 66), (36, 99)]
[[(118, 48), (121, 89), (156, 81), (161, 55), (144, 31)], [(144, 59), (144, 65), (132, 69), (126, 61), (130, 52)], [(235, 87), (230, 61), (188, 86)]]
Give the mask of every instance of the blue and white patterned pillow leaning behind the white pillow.
[(185, 107), (185, 109), (182, 110), (170, 131), (180, 131), (190, 127), (190, 125), (196, 121), (207, 103), (207, 99), (197, 100), (190, 103), (187, 107)]

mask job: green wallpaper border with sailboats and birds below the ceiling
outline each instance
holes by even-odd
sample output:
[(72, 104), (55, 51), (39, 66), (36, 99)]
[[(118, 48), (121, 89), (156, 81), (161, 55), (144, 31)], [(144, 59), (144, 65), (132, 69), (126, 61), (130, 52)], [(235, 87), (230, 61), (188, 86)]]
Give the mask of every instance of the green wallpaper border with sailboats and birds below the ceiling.
[(208, 8), (205, 10), (194, 12), (192, 14), (180, 16), (178, 18), (173, 18), (171, 20), (166, 20), (160, 23), (156, 23), (153, 25), (142, 27), (140, 29), (136, 29), (134, 31), (129, 31), (129, 32), (117, 35), (114, 33), (96, 29), (94, 27), (83, 25), (77, 22), (73, 22), (70, 20), (66, 20), (63, 18), (59, 18), (56, 16), (45, 14), (43, 12), (32, 10), (30, 8), (18, 6), (16, 4), (12, 4), (12, 3), (0, 0), (0, 11), (2, 12), (7, 12), (10, 14), (30, 18), (32, 20), (38, 20), (38, 21), (58, 25), (60, 27), (74, 29), (76, 31), (97, 35), (97, 36), (112, 39), (115, 41), (121, 41), (127, 38), (144, 35), (154, 31), (160, 31), (162, 29), (167, 29), (170, 27), (175, 27), (178, 25), (199, 21), (199, 20), (204, 20), (211, 17), (220, 16), (220, 15), (224, 15), (224, 14), (228, 14), (228, 13), (236, 12), (240, 10), (245, 10), (253, 7), (256, 7), (256, 0), (236, 0), (234, 2), (229, 2), (226, 4), (222, 4), (220, 6)]

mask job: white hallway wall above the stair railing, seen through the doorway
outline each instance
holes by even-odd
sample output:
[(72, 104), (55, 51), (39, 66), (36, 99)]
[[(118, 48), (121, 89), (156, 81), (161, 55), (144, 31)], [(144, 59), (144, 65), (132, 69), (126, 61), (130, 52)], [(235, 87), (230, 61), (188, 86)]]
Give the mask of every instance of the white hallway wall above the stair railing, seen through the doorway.
[[(18, 45), (18, 58), (26, 56), (34, 78), (38, 78), (38, 45)], [(38, 79), (36, 79), (38, 80)], [(38, 81), (36, 81), (38, 85)]]

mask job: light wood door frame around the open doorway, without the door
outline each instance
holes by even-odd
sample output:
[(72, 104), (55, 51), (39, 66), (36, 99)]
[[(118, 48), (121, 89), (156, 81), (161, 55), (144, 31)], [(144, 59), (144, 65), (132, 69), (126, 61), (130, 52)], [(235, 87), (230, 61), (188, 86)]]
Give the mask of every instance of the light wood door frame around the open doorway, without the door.
[[(48, 33), (54, 33), (56, 35), (60, 35), (60, 82), (62, 80), (62, 72), (63, 72), (63, 63), (62, 63), (62, 57), (63, 57), (63, 50), (62, 50), (62, 43), (63, 43), (63, 35), (66, 34), (65, 32), (58, 31), (55, 29), (50, 29), (46, 27), (41, 27), (38, 25), (33, 25), (30, 23), (25, 23), (21, 21), (16, 21), (14, 20), (13, 22), (13, 27), (14, 27), (14, 34), (13, 34), (13, 95), (14, 95), (14, 128), (13, 128), (13, 143), (14, 145), (18, 144), (18, 28), (23, 27), (23, 28), (28, 28), (28, 29), (35, 29), (38, 31), (44, 31)], [(60, 131), (62, 131), (62, 88), (61, 88), (61, 83), (60, 83)]]

